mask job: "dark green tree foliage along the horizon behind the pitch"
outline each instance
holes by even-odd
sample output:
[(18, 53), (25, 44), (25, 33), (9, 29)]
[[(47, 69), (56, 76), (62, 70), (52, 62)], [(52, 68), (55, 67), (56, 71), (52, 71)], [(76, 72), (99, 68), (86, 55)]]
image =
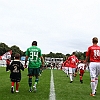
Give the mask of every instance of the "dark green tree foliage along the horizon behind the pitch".
[[(8, 47), (8, 45), (6, 45), (5, 43), (0, 43), (0, 55), (4, 54), (5, 52), (12, 50), (12, 59), (14, 59), (14, 55), (16, 53), (20, 53), (21, 56), (25, 56), (25, 51), (20, 50), (20, 48), (16, 45), (13, 45), (11, 47)], [(86, 52), (82, 53), (82, 52), (78, 52), (76, 51), (76, 56), (78, 57), (79, 60), (84, 60), (85, 59), (85, 54)], [(62, 53), (53, 53), (50, 52), (49, 54), (43, 54), (43, 57), (51, 57), (51, 58), (63, 58), (64, 61), (66, 60), (66, 58), (68, 56), (70, 56), (71, 54), (62, 54)]]

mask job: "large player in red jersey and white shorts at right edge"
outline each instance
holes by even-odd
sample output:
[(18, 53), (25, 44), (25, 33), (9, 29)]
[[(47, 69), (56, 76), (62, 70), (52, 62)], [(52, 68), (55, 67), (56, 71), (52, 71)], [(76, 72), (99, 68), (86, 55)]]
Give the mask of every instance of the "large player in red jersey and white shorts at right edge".
[(98, 38), (94, 37), (92, 39), (92, 46), (88, 47), (86, 53), (86, 62), (90, 61), (90, 78), (91, 78), (91, 96), (95, 96), (97, 86), (98, 86), (98, 76), (100, 75), (100, 46), (97, 45)]

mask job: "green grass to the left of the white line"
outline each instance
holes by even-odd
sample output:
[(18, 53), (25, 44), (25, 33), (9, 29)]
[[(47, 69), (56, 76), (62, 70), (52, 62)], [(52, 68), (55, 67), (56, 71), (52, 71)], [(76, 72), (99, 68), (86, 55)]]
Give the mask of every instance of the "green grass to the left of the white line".
[(44, 70), (42, 73), (36, 93), (30, 93), (28, 91), (28, 76), (27, 69), (25, 69), (25, 71), (22, 71), (22, 80), (19, 86), (20, 92), (12, 94), (10, 92), (11, 82), (9, 74), (10, 72), (6, 72), (5, 68), (0, 68), (0, 100), (48, 100), (50, 92), (50, 70)]

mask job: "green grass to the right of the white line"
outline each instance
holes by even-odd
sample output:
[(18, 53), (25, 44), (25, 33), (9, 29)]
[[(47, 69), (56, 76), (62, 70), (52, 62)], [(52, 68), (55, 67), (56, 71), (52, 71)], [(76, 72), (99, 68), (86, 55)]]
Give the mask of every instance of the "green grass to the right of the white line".
[(70, 83), (69, 77), (61, 70), (54, 70), (54, 81), (56, 100), (99, 100), (100, 99), (100, 83), (98, 84), (98, 91), (95, 97), (89, 94), (90, 89), (90, 76), (89, 72), (85, 72), (83, 76), (83, 84), (79, 81), (79, 75), (74, 78), (74, 82)]

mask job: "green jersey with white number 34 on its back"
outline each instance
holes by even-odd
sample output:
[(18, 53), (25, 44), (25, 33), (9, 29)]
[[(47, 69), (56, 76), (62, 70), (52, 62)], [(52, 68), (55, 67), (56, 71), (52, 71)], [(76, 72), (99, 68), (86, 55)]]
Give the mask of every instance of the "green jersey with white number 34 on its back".
[(40, 48), (38, 48), (37, 46), (31, 46), (30, 48), (27, 49), (26, 56), (29, 57), (29, 64), (28, 64), (29, 68), (40, 67), (41, 65), (40, 57), (42, 56)]

